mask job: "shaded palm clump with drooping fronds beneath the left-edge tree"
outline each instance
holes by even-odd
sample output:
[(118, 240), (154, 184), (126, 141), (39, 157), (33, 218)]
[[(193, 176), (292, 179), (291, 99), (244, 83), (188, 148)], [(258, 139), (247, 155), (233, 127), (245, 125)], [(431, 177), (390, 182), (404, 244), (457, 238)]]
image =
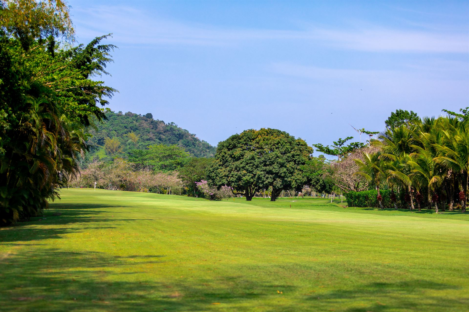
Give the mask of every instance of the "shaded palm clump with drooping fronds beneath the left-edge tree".
[[(46, 93), (43, 93), (46, 94)], [(37, 215), (54, 199), (56, 188), (78, 172), (86, 147), (83, 125), (70, 122), (46, 97), (27, 96), (28, 110), (0, 158), (0, 223)]]

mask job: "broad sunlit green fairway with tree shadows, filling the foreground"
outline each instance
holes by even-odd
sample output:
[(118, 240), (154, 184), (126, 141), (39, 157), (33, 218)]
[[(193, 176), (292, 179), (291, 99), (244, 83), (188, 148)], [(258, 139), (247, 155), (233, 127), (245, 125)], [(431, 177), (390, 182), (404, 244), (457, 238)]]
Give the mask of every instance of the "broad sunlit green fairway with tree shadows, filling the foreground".
[(45, 217), (0, 228), (0, 311), (469, 310), (469, 214), (61, 197)]

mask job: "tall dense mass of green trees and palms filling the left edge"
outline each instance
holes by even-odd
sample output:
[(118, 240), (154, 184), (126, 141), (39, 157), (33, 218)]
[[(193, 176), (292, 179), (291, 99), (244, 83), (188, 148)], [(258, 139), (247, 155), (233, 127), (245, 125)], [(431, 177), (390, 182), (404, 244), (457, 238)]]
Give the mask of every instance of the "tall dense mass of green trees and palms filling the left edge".
[(37, 215), (77, 174), (85, 127), (115, 91), (91, 79), (113, 46), (56, 43), (71, 25), (61, 0), (0, 1), (0, 224)]

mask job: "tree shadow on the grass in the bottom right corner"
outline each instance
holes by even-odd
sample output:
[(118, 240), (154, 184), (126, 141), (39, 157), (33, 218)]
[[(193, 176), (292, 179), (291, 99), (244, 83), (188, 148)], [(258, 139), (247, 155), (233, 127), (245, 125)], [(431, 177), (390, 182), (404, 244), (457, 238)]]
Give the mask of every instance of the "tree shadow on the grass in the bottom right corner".
[[(459, 290), (460, 288), (427, 280), (408, 280), (394, 283), (368, 283), (353, 290), (334, 290), (321, 296), (321, 301), (341, 305), (345, 312), (385, 311), (463, 311), (469, 304), (468, 298), (448, 298), (433, 291)], [(361, 302), (360, 306), (348, 307), (346, 302)], [(312, 297), (311, 300), (316, 300)], [(461, 310), (459, 310), (459, 307)]]

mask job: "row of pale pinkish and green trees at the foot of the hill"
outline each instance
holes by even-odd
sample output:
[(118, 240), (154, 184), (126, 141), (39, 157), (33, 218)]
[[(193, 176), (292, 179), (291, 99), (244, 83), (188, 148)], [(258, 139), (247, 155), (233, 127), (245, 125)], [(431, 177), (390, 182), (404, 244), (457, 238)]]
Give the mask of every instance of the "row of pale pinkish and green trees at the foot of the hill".
[(210, 158), (191, 157), (177, 145), (150, 145), (135, 150), (130, 160), (93, 161), (68, 187), (152, 192), (159, 194), (203, 196), (197, 182), (206, 179)]

